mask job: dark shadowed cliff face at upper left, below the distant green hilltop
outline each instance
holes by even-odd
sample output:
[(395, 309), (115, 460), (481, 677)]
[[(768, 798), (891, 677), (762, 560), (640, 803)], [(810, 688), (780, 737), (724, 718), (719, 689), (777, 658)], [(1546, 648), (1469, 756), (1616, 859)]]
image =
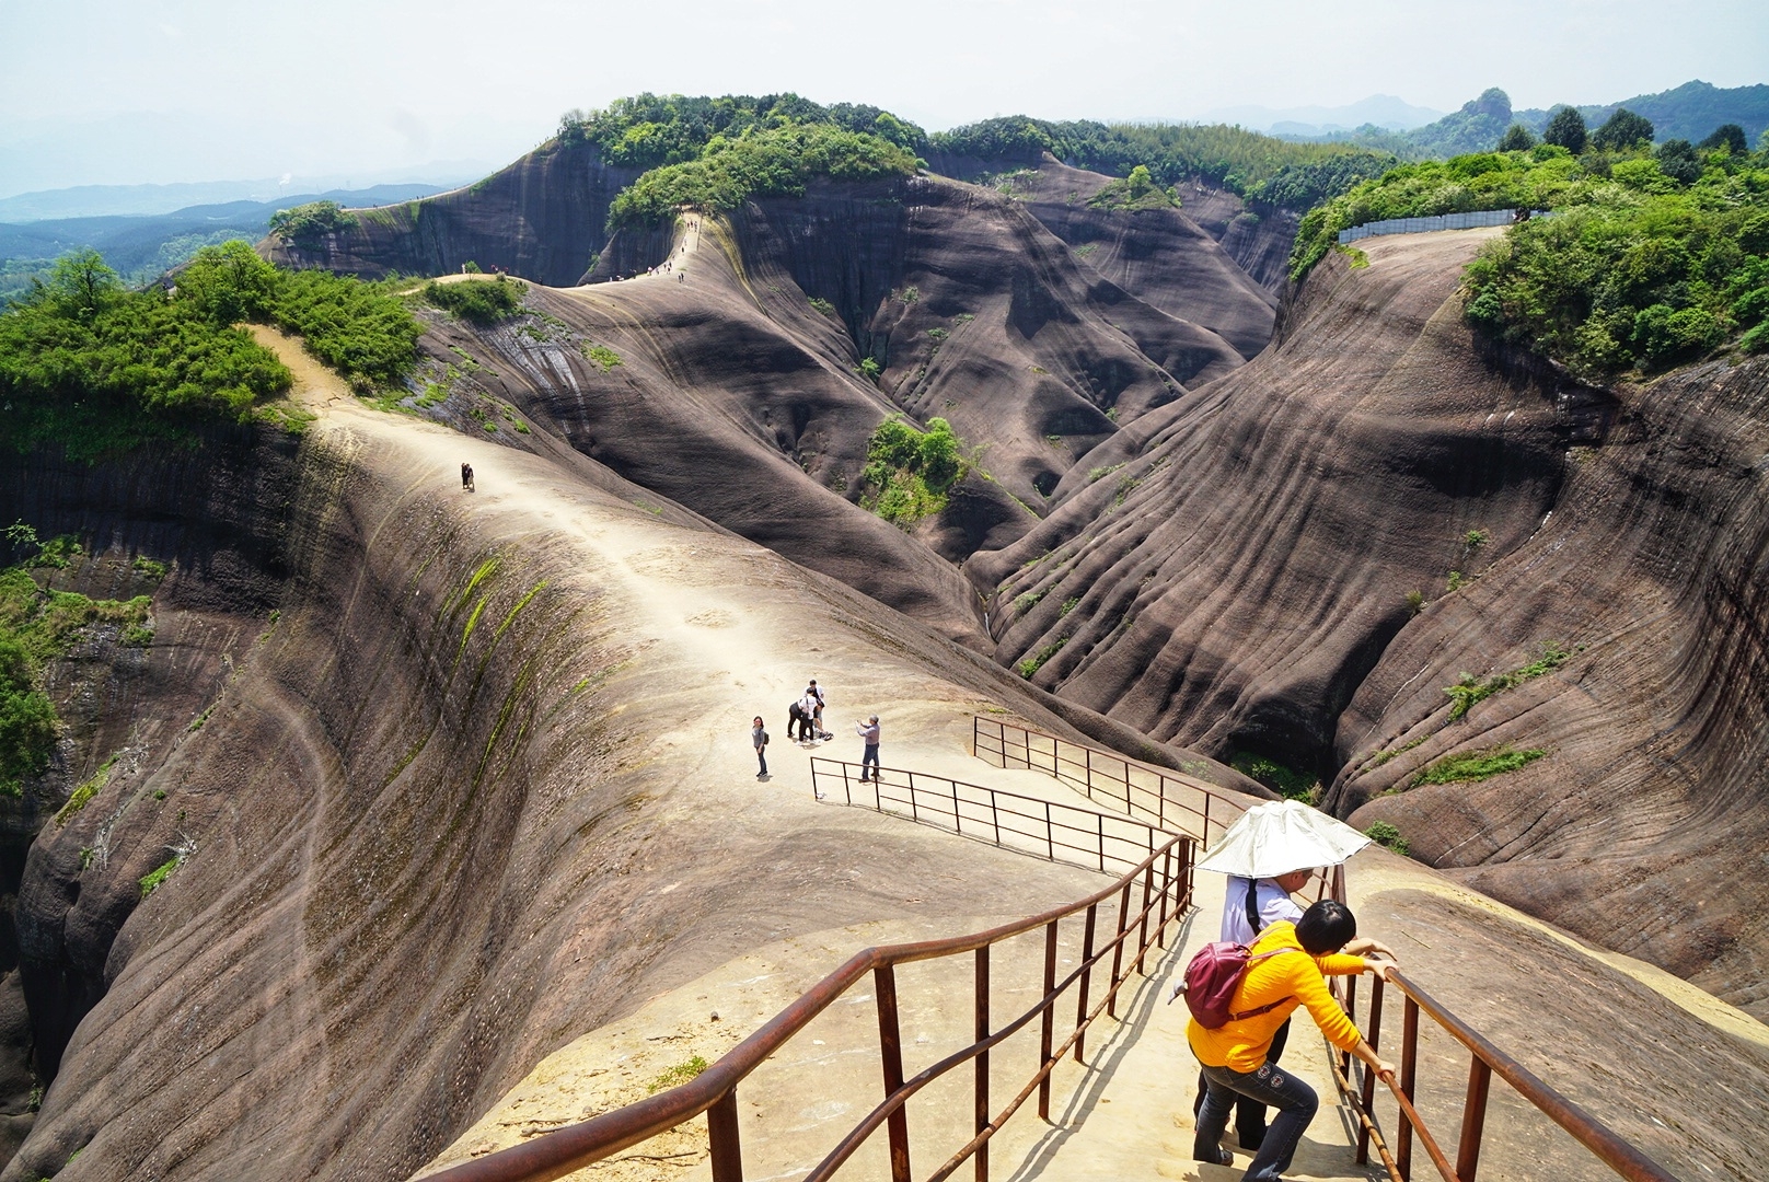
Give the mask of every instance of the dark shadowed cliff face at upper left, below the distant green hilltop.
[(566, 287), (607, 244), (609, 203), (640, 172), (603, 165), (591, 145), (548, 142), (469, 188), (352, 211), (350, 230), (313, 242), (267, 239), (267, 255), (371, 280), (449, 274), (474, 262)]

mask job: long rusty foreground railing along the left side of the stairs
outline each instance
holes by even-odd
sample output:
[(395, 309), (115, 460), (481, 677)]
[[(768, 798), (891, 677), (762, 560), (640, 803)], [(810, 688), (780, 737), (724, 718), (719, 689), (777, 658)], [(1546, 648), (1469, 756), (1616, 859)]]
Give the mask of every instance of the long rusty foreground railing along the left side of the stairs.
[[(1051, 1072), (1065, 1055), (1072, 1053), (1076, 1062), (1081, 1062), (1093, 1021), (1100, 1014), (1116, 1016), (1118, 994), (1125, 982), (1143, 971), (1143, 963), (1153, 950), (1166, 948), (1168, 927), (1180, 922), (1191, 906), (1192, 851), (1191, 837), (1173, 837), (1129, 874), (1077, 902), (971, 936), (883, 945), (858, 952), (690, 1083), (522, 1145), (428, 1173), (425, 1182), (548, 1182), (674, 1129), (701, 1113), (708, 1117), (713, 1182), (743, 1182), (738, 1085), (867, 975), (872, 977), (876, 996), (884, 1099), (830, 1148), (807, 1175), (807, 1182), (830, 1178), (879, 1127), (886, 1131), (892, 1182), (909, 1182), (906, 1106), (929, 1083), (964, 1063), (971, 1063), (975, 1072), (975, 1134), (927, 1177), (939, 1182), (966, 1161), (973, 1161), (976, 1180), (987, 1182), (989, 1140), (1035, 1092), (1038, 1115), (1049, 1118)], [(1081, 956), (1077, 966), (1058, 979), (1058, 929), (1065, 922), (1083, 925)], [(989, 952), (1005, 940), (1038, 929), (1044, 929), (1042, 994), (1028, 1010), (1003, 1025), (992, 1025)], [(976, 1037), (969, 1046), (906, 1076), (895, 970), (899, 964), (966, 954), (975, 963)], [(1111, 970), (1104, 989), (1093, 994), (1095, 971), (1104, 971), (1107, 963)], [(1058, 1042), (1058, 1009), (1065, 994), (1074, 998), (1076, 1021)], [(991, 1113), (994, 1079), (989, 1051), (1031, 1023), (1038, 1023), (1038, 1067), (1014, 1099)]]

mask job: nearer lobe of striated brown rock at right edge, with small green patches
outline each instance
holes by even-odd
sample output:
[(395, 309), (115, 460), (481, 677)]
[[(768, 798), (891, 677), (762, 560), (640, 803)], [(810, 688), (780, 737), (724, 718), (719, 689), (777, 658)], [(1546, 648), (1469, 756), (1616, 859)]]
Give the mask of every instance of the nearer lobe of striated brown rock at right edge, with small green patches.
[[(1330, 803), (1769, 1017), (1769, 363), (1684, 370), (1612, 412), (1569, 453), (1541, 529), (1383, 653), (1341, 717)], [(1447, 718), (1442, 687), (1546, 644), (1569, 660)], [(1546, 754), (1412, 787), (1451, 752), (1497, 747)]]

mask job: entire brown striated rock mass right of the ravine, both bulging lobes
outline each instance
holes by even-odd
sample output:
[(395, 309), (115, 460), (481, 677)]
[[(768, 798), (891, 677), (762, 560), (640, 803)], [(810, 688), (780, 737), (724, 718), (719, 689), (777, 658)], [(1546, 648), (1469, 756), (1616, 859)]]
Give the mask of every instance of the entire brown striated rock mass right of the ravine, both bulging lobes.
[[(1617, 395), (1486, 356), (1454, 296), (1481, 237), (1330, 260), (1274, 347), (969, 559), (1001, 589), (999, 658), (1157, 738), (1316, 771), (1355, 825), (1769, 1012), (1769, 366)], [(1459, 674), (1550, 646), (1564, 664), (1449, 720)], [(1498, 747), (1546, 754), (1413, 787)]]

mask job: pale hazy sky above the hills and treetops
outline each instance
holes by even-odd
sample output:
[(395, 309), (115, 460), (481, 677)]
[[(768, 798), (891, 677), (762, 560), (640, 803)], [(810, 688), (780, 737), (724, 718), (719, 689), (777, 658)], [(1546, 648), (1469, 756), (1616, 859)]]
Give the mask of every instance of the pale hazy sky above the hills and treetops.
[(639, 90), (1198, 119), (1769, 81), (1764, 0), (0, 0), (0, 196), (502, 163)]

